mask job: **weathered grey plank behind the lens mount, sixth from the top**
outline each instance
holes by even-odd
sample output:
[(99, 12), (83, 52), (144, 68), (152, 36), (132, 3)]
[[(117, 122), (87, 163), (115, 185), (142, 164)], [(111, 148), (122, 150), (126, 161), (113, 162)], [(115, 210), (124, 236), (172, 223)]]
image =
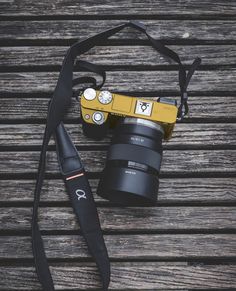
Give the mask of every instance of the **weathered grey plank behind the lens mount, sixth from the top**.
[[(1, 124), (0, 146), (41, 146), (45, 125), (42, 124)], [(110, 137), (94, 140), (84, 136), (81, 124), (67, 124), (66, 128), (77, 146), (108, 146)], [(50, 142), (54, 145), (54, 140)], [(235, 123), (177, 124), (172, 138), (163, 143), (165, 149), (199, 146), (235, 146)]]

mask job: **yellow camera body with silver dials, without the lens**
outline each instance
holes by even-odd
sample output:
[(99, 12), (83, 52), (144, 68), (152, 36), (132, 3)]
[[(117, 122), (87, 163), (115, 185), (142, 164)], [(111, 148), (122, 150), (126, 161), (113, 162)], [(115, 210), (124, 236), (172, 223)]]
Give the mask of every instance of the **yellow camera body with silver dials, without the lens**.
[(159, 98), (158, 101), (153, 101), (92, 88), (83, 92), (80, 102), (81, 117), (88, 125), (108, 122), (113, 127), (117, 116), (142, 118), (160, 124), (166, 140), (171, 137), (178, 113), (174, 100)]

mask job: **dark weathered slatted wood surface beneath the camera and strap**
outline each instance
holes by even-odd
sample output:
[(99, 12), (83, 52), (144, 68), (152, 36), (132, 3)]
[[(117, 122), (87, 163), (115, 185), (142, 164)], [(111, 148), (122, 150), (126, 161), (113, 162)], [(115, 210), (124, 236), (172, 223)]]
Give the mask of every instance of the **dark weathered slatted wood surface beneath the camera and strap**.
[[(135, 2), (135, 3), (134, 3)], [(0, 290), (38, 290), (30, 238), (48, 100), (66, 49), (128, 19), (142, 20), (189, 65), (191, 116), (164, 144), (157, 207), (121, 208), (95, 194), (111, 258), (111, 290), (236, 290), (235, 1), (0, 1)], [(177, 66), (126, 29), (83, 56), (107, 69), (105, 88), (179, 96)], [(79, 104), (65, 118), (96, 191), (110, 137), (83, 136)], [(40, 226), (58, 290), (99, 289), (48, 153)]]

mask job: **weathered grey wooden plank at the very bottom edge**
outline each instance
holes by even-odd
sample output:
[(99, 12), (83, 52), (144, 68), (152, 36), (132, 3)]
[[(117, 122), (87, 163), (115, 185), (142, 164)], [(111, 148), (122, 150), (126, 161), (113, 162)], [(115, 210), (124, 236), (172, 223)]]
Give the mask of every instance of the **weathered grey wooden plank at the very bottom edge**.
[[(51, 265), (57, 290), (101, 288), (94, 264)], [(38, 290), (40, 285), (31, 266), (1, 266), (0, 290)], [(163, 262), (111, 263), (109, 290), (199, 290), (234, 289), (235, 265), (187, 265)]]

